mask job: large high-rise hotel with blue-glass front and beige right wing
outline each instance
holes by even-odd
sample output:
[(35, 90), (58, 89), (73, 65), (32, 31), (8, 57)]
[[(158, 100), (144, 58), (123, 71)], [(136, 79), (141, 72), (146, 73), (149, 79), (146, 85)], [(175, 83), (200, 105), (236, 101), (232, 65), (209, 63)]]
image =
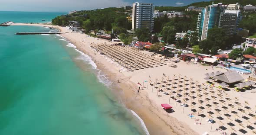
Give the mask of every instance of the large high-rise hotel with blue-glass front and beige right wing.
[(242, 19), (238, 3), (223, 5), (212, 4), (203, 8), (197, 19), (197, 32), (199, 39), (207, 39), (208, 30), (213, 27), (222, 28), (226, 35), (236, 34), (236, 29)]

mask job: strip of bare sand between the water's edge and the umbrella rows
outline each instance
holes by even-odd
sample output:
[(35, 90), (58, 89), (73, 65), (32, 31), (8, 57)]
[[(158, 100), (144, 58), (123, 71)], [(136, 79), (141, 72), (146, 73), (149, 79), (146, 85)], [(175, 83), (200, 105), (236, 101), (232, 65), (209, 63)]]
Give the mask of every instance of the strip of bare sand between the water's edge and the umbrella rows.
[[(60, 32), (65, 31), (63, 27), (52, 26), (46, 24), (13, 24), (13, 25), (24, 25), (24, 26), (46, 26), (59, 29)], [(79, 34), (79, 35), (78, 35)], [(74, 44), (79, 51), (82, 51), (86, 55), (89, 55), (92, 60), (96, 60), (95, 64), (97, 69), (101, 70), (109, 80), (113, 82), (111, 89), (114, 91), (116, 97), (119, 97), (122, 103), (127, 109), (133, 110), (138, 116), (143, 119), (148, 131), (151, 135), (162, 134), (162, 135), (197, 135), (198, 133), (190, 129), (189, 125), (184, 122), (178, 121), (172, 116), (168, 116), (163, 110), (159, 110), (159, 107), (152, 101), (146, 90), (142, 90), (141, 93), (137, 94), (137, 85), (131, 81), (131, 76), (127, 76), (118, 71), (113, 64), (110, 64), (103, 57), (94, 55), (92, 48), (89, 45), (84, 47), (79, 44), (79, 41), (75, 39), (75, 36), (80, 36), (80, 33), (67, 33), (60, 34), (66, 38), (69, 42)], [(86, 36), (86, 35), (85, 35)], [(91, 37), (92, 38), (92, 37)], [(87, 38), (86, 38), (87, 39)], [(108, 42), (104, 39), (92, 39), (94, 42)], [(82, 43), (80, 41), (80, 43)], [(82, 44), (90, 44), (90, 42), (83, 42)], [(116, 83), (116, 79), (119, 78), (120, 83)], [(169, 119), (169, 120), (166, 120)], [(171, 121), (171, 122), (170, 122)]]

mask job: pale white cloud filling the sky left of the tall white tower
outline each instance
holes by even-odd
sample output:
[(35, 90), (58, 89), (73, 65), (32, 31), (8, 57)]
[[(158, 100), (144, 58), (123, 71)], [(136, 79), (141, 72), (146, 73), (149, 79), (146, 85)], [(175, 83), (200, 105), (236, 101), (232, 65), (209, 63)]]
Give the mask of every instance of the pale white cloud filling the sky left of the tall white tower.
[(0, 10), (71, 11), (129, 5), (124, 0), (3, 0)]

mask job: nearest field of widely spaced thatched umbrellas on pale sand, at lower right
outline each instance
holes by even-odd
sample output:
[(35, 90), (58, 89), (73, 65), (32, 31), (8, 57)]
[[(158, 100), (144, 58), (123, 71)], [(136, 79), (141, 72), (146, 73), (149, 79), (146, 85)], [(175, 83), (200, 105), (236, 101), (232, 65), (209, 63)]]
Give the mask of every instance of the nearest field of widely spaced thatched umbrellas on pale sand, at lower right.
[[(184, 82), (183, 86), (180, 85), (181, 81)], [(170, 94), (170, 99), (180, 100), (188, 104), (191, 111), (197, 112), (202, 117), (213, 119), (221, 129), (226, 128), (230, 133), (245, 133), (248, 130), (248, 133), (253, 132), (253, 125), (256, 124), (256, 111), (248, 106), (247, 101), (242, 105), (237, 97), (230, 97), (227, 93), (220, 93), (213, 88), (203, 89), (198, 81), (192, 78), (189, 81), (186, 76), (181, 77), (181, 75), (174, 75), (173, 79), (162, 77), (161, 80), (149, 80), (149, 82), (156, 90), (162, 89)], [(187, 87), (188, 83), (190, 87)], [(247, 82), (246, 85), (249, 83)], [(205, 86), (205, 84), (202, 85)]]

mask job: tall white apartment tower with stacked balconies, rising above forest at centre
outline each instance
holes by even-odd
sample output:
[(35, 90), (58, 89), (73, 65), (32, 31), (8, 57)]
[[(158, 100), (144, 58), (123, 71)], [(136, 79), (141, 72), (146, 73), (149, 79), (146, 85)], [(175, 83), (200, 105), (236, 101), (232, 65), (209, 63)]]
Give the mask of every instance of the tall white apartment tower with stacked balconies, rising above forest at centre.
[(154, 5), (153, 3), (132, 4), (132, 30), (138, 28), (154, 29)]

